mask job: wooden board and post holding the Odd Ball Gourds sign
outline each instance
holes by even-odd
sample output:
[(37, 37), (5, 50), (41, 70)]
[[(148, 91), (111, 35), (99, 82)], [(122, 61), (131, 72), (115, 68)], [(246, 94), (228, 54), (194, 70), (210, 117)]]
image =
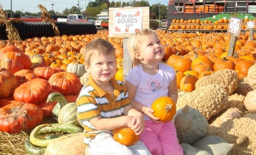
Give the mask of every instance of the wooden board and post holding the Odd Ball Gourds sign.
[(109, 37), (123, 37), (123, 79), (132, 68), (128, 37), (142, 28), (149, 28), (149, 7), (109, 8)]

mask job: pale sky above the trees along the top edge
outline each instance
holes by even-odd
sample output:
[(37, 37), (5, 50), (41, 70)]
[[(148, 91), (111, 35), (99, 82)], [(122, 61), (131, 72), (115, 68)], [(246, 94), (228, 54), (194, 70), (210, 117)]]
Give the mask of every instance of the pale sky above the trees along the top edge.
[[(94, 0), (92, 0), (94, 1)], [(109, 0), (110, 2), (112, 0)], [(114, 0), (114, 1), (121, 1), (121, 2), (131, 2), (130, 0)], [(138, 0), (139, 1), (139, 0)], [(150, 5), (161, 3), (164, 5), (168, 5), (169, 0), (149, 0)], [(12, 11), (15, 12), (17, 10), (23, 12), (31, 12), (36, 13), (40, 12), (40, 9), (37, 7), (38, 4), (42, 4), (46, 7), (46, 9), (49, 11), (52, 9), (56, 12), (61, 12), (66, 8), (71, 8), (72, 6), (77, 6), (78, 0), (1, 0), (0, 5), (3, 7), (3, 10), (9, 10), (11, 9), (11, 2), (12, 2)], [(84, 2), (86, 2), (85, 6), (90, 2), (90, 0), (79, 0), (79, 5), (84, 10)]]

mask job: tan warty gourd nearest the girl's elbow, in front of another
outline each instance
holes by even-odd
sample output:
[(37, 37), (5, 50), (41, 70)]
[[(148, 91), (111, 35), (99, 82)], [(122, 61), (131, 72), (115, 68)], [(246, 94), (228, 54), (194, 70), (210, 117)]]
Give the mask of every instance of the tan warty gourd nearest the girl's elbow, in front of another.
[(201, 86), (178, 98), (177, 109), (185, 105), (197, 109), (207, 120), (218, 115), (228, 106), (228, 94), (226, 90), (218, 84)]

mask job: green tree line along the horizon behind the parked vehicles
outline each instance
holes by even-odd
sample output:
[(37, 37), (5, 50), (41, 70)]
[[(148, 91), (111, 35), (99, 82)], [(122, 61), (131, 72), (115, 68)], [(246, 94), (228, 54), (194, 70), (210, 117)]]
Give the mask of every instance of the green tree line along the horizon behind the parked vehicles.
[[(48, 10), (50, 15), (63, 15), (67, 16), (69, 14), (84, 14), (90, 17), (91, 19), (96, 19), (96, 16), (100, 14), (101, 11), (107, 10), (108, 7), (125, 7), (125, 6), (132, 6), (132, 7), (144, 7), (149, 6), (150, 7), (150, 19), (167, 19), (167, 6), (162, 3), (156, 3), (152, 4), (150, 6), (149, 2), (146, 0), (132, 0), (130, 2), (121, 2), (121, 1), (111, 1), (107, 3), (106, 0), (95, 0), (94, 2), (89, 2), (87, 4), (87, 7), (85, 10), (82, 10), (81, 7), (72, 6), (71, 8), (65, 8), (62, 12), (54, 11), (54, 10)], [(160, 11), (160, 12), (159, 12)], [(11, 14), (11, 10), (5, 10), (7, 14)], [(41, 16), (41, 12), (32, 13), (32, 12), (22, 12), (20, 10), (17, 10), (16, 12), (12, 12), (12, 14), (16, 15), (29, 15), (29, 16)]]

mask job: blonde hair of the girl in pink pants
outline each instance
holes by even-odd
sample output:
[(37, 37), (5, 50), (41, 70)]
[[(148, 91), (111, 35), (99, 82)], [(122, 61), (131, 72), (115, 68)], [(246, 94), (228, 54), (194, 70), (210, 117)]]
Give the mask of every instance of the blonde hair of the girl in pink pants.
[(135, 32), (134, 34), (131, 34), (131, 36), (128, 38), (128, 50), (133, 62), (133, 66), (140, 64), (140, 60), (134, 57), (134, 53), (138, 50), (138, 47), (144, 41), (145, 37), (158, 38), (158, 35), (152, 29), (144, 28)]

